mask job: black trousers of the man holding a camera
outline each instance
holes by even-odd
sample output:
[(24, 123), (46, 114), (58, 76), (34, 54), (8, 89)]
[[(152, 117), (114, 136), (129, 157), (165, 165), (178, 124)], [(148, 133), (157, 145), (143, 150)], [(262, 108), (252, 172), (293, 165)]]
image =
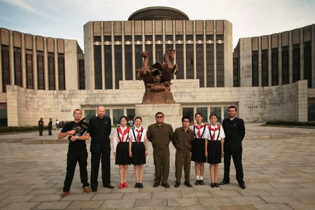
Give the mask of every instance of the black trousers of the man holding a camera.
[(80, 167), (80, 180), (83, 188), (90, 186), (87, 182), (87, 151), (68, 151), (66, 155), (66, 179), (64, 179), (64, 192), (69, 192), (76, 171), (76, 162)]

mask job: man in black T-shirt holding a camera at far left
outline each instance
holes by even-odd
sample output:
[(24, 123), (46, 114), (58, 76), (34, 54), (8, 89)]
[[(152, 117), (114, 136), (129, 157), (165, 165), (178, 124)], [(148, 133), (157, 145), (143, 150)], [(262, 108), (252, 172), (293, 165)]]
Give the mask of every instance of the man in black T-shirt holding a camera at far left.
[(66, 123), (62, 131), (58, 134), (58, 139), (68, 136), (69, 147), (66, 155), (66, 179), (64, 180), (63, 193), (61, 197), (69, 194), (73, 175), (76, 170), (76, 162), (80, 167), (80, 179), (83, 183), (85, 193), (90, 193), (90, 184), (87, 182), (87, 150), (85, 140), (90, 138), (87, 124), (81, 119), (82, 111), (75, 109), (73, 111), (74, 120)]

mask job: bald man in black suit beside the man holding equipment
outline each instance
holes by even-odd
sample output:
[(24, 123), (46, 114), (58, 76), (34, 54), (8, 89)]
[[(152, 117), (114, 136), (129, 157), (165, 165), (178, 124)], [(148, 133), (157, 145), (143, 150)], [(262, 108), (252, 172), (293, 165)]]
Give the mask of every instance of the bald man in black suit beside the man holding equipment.
[(105, 107), (97, 107), (97, 116), (91, 118), (91, 188), (92, 192), (97, 192), (99, 176), (99, 161), (102, 158), (102, 182), (105, 188), (111, 186), (111, 118), (105, 116)]

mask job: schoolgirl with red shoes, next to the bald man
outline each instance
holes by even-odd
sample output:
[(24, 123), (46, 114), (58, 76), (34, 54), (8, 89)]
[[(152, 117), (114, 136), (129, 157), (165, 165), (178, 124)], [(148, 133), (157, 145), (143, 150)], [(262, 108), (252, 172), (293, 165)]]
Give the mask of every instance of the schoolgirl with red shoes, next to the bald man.
[(127, 127), (127, 117), (122, 116), (120, 118), (120, 126), (114, 132), (113, 137), (113, 155), (115, 158), (115, 164), (119, 165), (120, 184), (119, 189), (127, 188), (127, 174), (128, 165), (131, 160), (129, 157), (129, 132), (130, 127)]

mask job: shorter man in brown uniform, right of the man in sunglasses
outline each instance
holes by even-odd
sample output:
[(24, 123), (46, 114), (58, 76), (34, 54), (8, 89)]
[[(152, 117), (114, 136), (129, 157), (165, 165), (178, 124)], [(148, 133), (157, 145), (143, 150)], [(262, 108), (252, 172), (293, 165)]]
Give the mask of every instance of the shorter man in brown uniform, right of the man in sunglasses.
[(190, 184), (190, 150), (191, 143), (195, 138), (193, 130), (189, 129), (190, 118), (188, 116), (181, 118), (181, 123), (183, 123), (182, 127), (176, 128), (174, 134), (172, 136), (172, 143), (176, 148), (175, 155), (175, 188), (178, 188), (181, 184), (181, 173), (184, 168), (185, 172), (185, 182), (184, 185), (188, 186), (188, 188), (193, 187)]

